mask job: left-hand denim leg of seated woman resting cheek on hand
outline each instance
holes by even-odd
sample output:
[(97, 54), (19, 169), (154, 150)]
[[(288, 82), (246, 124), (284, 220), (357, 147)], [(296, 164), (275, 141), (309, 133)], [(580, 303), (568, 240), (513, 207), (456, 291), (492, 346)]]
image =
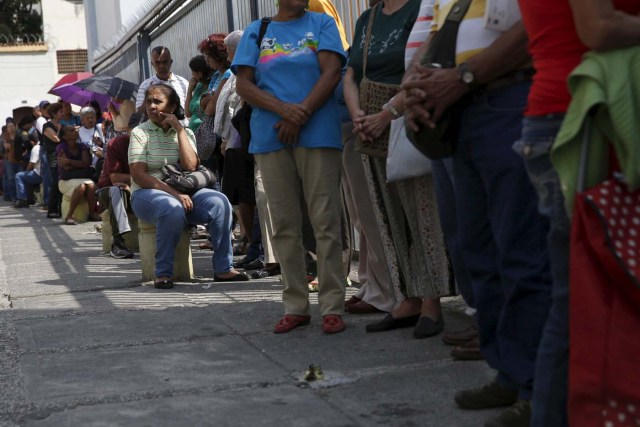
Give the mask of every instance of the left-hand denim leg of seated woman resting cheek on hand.
[(176, 246), (187, 225), (182, 203), (164, 191), (140, 189), (131, 196), (131, 208), (142, 221), (156, 226), (156, 278), (172, 278)]

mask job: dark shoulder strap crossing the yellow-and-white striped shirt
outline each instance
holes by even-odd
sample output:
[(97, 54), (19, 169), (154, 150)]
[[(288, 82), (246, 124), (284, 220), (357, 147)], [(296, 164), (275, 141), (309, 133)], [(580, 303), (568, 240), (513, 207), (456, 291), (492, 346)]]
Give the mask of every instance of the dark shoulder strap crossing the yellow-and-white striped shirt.
[(458, 0), (451, 7), (447, 18), (429, 45), (427, 53), (422, 57), (422, 65), (440, 64), (443, 68), (456, 66), (456, 45), (458, 29), (464, 19), (472, 0)]

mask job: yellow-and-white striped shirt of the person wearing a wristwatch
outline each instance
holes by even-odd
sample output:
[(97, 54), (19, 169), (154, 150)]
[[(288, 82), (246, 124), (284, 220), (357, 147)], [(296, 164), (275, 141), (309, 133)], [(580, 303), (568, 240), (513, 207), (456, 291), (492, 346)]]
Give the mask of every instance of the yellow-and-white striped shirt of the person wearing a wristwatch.
[[(432, 31), (444, 25), (456, 0), (436, 0), (433, 6)], [(456, 46), (456, 63), (461, 64), (489, 47), (502, 34), (484, 27), (486, 0), (472, 0), (471, 6), (460, 23)]]

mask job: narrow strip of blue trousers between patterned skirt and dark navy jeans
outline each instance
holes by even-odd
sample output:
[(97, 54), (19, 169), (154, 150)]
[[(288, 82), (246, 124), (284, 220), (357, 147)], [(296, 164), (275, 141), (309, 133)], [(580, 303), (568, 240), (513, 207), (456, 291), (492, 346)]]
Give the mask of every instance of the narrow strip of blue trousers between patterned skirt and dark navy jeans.
[(473, 296), (471, 277), (467, 267), (464, 265), (464, 258), (460, 248), (460, 228), (458, 227), (456, 209), (453, 159), (434, 160), (431, 163), (431, 168), (433, 170), (433, 183), (436, 187), (440, 225), (444, 240), (447, 243), (456, 285), (467, 305), (475, 308), (476, 302)]

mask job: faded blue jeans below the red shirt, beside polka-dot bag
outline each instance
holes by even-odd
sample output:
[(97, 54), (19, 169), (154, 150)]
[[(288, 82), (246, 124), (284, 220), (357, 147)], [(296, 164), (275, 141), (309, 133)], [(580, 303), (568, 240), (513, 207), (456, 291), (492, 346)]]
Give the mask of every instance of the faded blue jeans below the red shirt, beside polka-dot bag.
[(540, 341), (533, 387), (533, 427), (564, 427), (569, 367), (569, 217), (550, 152), (562, 115), (524, 119), (522, 139), (513, 146), (522, 156), (538, 193), (538, 210), (551, 221), (547, 236), (553, 289), (551, 310)]

